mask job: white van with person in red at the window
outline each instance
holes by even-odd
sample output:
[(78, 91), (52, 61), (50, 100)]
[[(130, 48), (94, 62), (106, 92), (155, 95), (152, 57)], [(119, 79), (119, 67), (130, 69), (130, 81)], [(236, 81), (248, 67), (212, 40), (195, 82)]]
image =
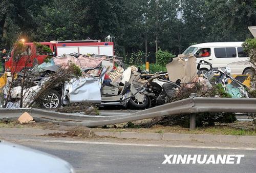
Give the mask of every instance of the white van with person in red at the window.
[[(192, 45), (184, 55), (197, 54), (197, 62), (200, 60), (208, 61), (212, 67), (230, 67), (228, 64), (249, 59), (242, 47), (243, 42), (206, 42)], [(210, 69), (209, 66), (201, 66), (200, 73), (205, 73)], [(255, 69), (250, 63), (242, 63), (240, 66), (232, 66), (231, 74), (250, 74), (253, 75)]]

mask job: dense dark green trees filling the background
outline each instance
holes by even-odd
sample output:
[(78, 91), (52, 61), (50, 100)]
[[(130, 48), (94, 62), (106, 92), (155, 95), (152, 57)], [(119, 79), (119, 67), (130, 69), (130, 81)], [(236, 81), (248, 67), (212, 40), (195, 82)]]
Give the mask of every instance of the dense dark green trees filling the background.
[[(161, 47), (182, 53), (197, 42), (244, 41), (256, 25), (255, 0), (2, 0), (1, 47), (28, 41), (116, 37), (117, 55)], [(156, 49), (156, 47), (158, 47)]]

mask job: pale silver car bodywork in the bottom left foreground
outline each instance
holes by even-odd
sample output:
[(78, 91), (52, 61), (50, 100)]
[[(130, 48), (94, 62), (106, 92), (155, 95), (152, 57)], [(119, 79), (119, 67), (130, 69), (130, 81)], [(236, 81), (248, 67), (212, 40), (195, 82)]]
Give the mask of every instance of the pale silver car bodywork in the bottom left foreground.
[(56, 156), (0, 140), (0, 167), (5, 173), (70, 173), (73, 167)]

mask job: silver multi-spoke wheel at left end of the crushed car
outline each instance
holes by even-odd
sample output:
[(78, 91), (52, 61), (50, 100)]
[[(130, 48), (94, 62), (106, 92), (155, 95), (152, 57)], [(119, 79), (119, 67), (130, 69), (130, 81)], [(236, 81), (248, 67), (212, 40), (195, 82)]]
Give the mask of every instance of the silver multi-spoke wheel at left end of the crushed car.
[(60, 107), (61, 97), (59, 93), (55, 90), (48, 91), (42, 100), (42, 105), (50, 109)]

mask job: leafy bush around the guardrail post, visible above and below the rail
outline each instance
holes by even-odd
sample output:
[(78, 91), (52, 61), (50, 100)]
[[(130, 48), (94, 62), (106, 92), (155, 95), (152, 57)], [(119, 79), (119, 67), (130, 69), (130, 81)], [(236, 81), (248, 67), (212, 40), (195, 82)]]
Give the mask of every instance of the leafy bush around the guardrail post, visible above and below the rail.
[[(196, 93), (198, 97), (231, 97), (225, 92), (221, 84), (208, 88), (203, 81), (200, 81), (201, 79), (195, 79), (183, 84), (172, 102), (186, 99), (190, 97), (191, 93)], [(150, 126), (160, 124), (164, 126), (181, 125), (183, 127), (189, 127), (189, 116), (190, 114), (164, 116), (161, 119), (153, 119)], [(197, 126), (215, 125), (216, 122), (232, 123), (236, 121), (236, 116), (233, 113), (199, 113), (196, 117)]]

